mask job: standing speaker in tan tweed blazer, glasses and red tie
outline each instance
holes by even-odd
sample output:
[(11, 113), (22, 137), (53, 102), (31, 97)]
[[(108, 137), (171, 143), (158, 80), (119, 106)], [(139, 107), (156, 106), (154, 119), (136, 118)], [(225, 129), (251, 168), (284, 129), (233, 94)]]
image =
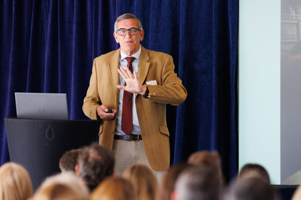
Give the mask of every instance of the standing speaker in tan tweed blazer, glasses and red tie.
[(170, 55), (140, 45), (144, 36), (140, 19), (121, 15), (114, 29), (120, 48), (94, 59), (83, 111), (91, 119), (100, 119), (99, 144), (113, 148), (116, 175), (134, 163), (167, 170), (165, 104), (179, 105), (187, 91)]

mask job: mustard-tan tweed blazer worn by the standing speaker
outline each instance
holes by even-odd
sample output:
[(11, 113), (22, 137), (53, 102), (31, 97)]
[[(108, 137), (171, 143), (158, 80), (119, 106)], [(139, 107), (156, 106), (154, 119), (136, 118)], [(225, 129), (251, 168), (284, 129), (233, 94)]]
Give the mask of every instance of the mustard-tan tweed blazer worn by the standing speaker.
[[(82, 107), (85, 115), (91, 119), (97, 119), (96, 108), (101, 104), (118, 112), (119, 89), (116, 86), (119, 85), (119, 57), (120, 48), (94, 59), (90, 85)], [(135, 103), (147, 159), (156, 171), (169, 169), (169, 131), (165, 105), (179, 105), (187, 96), (174, 67), (170, 55), (147, 50), (141, 45), (138, 78), (141, 84), (157, 80), (158, 85), (147, 85), (150, 97), (136, 94)], [(115, 125), (116, 115), (112, 120), (101, 120), (99, 144), (112, 149)]]

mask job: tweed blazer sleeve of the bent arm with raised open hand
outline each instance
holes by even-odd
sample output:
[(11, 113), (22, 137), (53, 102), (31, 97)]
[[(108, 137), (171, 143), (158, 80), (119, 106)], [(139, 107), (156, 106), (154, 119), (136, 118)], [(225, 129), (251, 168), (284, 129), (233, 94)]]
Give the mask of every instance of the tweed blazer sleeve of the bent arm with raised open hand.
[(182, 80), (174, 72), (174, 69), (173, 59), (168, 55), (163, 65), (161, 75), (162, 85), (147, 85), (150, 97), (144, 97), (144, 99), (171, 104), (173, 106), (178, 106), (184, 102), (187, 97), (187, 91), (182, 85)]

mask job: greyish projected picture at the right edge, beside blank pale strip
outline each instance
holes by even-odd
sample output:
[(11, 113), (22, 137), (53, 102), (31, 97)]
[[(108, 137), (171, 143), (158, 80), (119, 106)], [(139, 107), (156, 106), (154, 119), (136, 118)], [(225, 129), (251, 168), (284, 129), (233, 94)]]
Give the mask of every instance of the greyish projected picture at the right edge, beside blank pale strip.
[(301, 184), (301, 0), (281, 0), (281, 184)]

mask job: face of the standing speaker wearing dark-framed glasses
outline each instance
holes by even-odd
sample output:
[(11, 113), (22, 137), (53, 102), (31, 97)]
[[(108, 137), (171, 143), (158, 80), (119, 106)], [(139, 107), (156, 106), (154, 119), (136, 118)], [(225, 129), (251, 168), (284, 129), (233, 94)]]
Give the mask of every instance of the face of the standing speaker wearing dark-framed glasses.
[[(123, 19), (117, 23), (117, 30), (120, 28), (130, 29), (137, 28), (138, 29), (138, 21), (136, 19)], [(137, 35), (131, 35), (129, 31), (127, 31), (126, 35), (120, 36), (118, 32), (114, 32), (114, 37), (117, 43), (120, 44), (121, 50), (131, 56), (135, 54), (140, 48), (140, 41), (143, 40), (144, 31), (138, 31)]]

